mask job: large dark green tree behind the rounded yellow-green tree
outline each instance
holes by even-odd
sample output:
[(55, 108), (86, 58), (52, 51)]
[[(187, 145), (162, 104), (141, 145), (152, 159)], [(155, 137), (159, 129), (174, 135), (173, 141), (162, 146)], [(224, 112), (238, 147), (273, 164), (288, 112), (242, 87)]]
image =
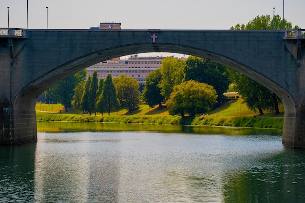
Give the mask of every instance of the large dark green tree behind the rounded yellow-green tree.
[(227, 67), (208, 59), (189, 56), (184, 69), (185, 81), (195, 80), (207, 83), (216, 90), (218, 102), (225, 101), (224, 92), (229, 88), (229, 75)]

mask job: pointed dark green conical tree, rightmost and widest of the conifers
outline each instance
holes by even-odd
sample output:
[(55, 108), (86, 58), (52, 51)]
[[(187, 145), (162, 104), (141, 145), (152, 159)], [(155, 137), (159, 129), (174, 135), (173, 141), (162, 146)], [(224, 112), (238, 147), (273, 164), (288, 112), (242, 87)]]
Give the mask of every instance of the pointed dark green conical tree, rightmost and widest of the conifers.
[(98, 112), (107, 111), (108, 115), (110, 115), (110, 111), (115, 110), (118, 107), (116, 91), (111, 74), (107, 75), (106, 80), (103, 83), (103, 91), (98, 97), (96, 107)]

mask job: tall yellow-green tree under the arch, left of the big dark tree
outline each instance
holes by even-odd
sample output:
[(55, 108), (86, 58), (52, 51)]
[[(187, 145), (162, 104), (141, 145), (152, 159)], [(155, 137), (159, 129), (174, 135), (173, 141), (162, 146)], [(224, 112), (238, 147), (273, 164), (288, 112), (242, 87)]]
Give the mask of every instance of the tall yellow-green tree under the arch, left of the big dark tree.
[(170, 98), (173, 87), (183, 82), (186, 63), (180, 58), (173, 58), (171, 56), (163, 59), (161, 63), (160, 72), (162, 79), (158, 87), (161, 88), (161, 94), (167, 100)]

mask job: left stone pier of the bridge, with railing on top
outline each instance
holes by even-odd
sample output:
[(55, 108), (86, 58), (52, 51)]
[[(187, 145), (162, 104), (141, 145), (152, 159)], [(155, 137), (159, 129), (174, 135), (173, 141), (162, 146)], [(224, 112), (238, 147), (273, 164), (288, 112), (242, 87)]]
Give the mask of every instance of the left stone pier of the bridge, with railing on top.
[(36, 142), (35, 92), (26, 93), (20, 91), (22, 85), (19, 87), (19, 82), (29, 77), (23, 71), (24, 55), (17, 58), (27, 37), (20, 29), (0, 29), (0, 34), (3, 32), (4, 36), (0, 35), (0, 144)]

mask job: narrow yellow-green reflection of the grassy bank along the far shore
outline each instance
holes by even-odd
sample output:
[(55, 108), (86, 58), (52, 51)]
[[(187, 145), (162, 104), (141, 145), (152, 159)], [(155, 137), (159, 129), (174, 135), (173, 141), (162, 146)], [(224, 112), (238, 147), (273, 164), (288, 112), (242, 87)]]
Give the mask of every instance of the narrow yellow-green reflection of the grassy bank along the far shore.
[(227, 134), (227, 135), (266, 135), (282, 134), (282, 129), (255, 129), (218, 126), (183, 126), (127, 123), (77, 123), (77, 122), (38, 122), (38, 132), (118, 132), (155, 131), (164, 133)]

